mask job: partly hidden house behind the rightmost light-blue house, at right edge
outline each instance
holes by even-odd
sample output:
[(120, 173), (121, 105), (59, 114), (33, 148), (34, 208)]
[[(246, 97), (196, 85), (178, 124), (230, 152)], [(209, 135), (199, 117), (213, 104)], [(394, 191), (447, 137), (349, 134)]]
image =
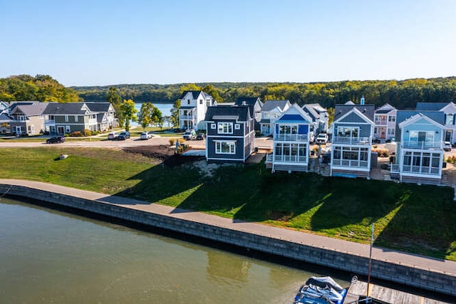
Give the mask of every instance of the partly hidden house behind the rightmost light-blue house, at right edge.
[(444, 142), (456, 142), (456, 105), (455, 103), (417, 103), (417, 111), (439, 111), (445, 114)]

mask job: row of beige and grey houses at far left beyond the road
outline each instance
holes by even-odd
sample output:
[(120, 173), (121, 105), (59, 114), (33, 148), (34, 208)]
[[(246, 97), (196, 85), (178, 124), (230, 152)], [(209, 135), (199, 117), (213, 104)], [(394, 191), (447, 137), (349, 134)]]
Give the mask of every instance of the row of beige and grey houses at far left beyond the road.
[(1, 133), (63, 135), (83, 130), (110, 130), (118, 127), (118, 119), (110, 103), (1, 102), (0, 125)]

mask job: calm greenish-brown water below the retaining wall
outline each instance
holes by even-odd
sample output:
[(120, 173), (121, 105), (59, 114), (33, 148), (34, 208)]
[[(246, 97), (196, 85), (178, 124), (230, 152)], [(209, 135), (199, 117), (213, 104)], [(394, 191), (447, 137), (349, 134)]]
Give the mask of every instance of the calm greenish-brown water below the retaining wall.
[(311, 275), (0, 199), (0, 303), (291, 303)]

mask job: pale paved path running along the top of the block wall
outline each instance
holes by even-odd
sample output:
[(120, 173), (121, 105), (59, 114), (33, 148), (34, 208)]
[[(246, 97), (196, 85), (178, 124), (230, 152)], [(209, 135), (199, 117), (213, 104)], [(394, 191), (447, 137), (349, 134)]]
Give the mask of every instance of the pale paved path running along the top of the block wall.
[[(63, 187), (55, 184), (46, 184), (42, 182), (31, 182), (16, 179), (0, 179), (0, 184), (20, 185), (23, 187), (41, 189), (48, 192), (56, 192), (66, 194), (69, 196), (77, 196), (84, 199), (103, 201), (108, 204), (124, 206), (125, 208), (137, 209), (141, 211), (152, 212), (155, 214), (172, 216), (179, 219), (195, 221), (213, 226), (220, 226), (228, 229), (234, 229), (237, 231), (250, 232), (252, 234), (269, 236), (275, 239), (282, 239), (285, 241), (303, 243), (318, 248), (326, 248), (334, 251), (351, 253), (356, 256), (363, 256), (366, 258), (368, 258), (369, 256), (369, 246), (361, 243), (353, 243), (350, 241), (331, 239), (325, 236), (318, 236), (316, 234), (308, 234), (290, 229), (281, 229), (262, 224), (256, 224), (252, 222), (225, 219), (219, 216), (202, 214), (195, 211), (187, 211), (183, 209), (172, 208), (169, 206), (162, 206), (159, 204), (150, 204), (147, 201), (125, 199), (119, 196), (110, 196), (106, 194)], [(432, 271), (447, 273), (451, 276), (456, 276), (456, 262), (454, 261), (445, 261), (437, 258), (426, 258), (411, 253), (403, 253), (400, 251), (376, 247), (373, 248), (373, 258), (379, 261), (388, 261), (389, 263), (397, 263), (405, 266), (415, 266), (416, 268), (430, 269)]]

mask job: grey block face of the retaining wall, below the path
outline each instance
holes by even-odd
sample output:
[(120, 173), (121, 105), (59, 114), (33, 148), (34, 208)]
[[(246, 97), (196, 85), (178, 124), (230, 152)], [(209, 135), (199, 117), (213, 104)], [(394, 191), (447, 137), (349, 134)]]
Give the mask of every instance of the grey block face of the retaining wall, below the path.
[[(69, 206), (95, 214), (112, 216), (115, 219), (123, 219), (160, 229), (177, 231), (182, 234), (190, 234), (244, 248), (252, 248), (276, 256), (293, 258), (297, 261), (305, 261), (331, 268), (338, 268), (351, 273), (367, 275), (368, 258), (355, 256), (350, 253), (332, 251), (325, 248), (260, 236), (245, 231), (235, 231), (218, 226), (201, 224), (195, 221), (177, 219), (172, 216), (129, 209), (125, 206), (109, 204), (103, 201), (93, 201), (23, 186), (0, 184), (0, 194), (4, 193), (46, 201), (61, 206)], [(448, 273), (440, 273), (429, 269), (420, 269), (373, 259), (371, 276), (438, 293), (456, 295), (456, 276)]]

